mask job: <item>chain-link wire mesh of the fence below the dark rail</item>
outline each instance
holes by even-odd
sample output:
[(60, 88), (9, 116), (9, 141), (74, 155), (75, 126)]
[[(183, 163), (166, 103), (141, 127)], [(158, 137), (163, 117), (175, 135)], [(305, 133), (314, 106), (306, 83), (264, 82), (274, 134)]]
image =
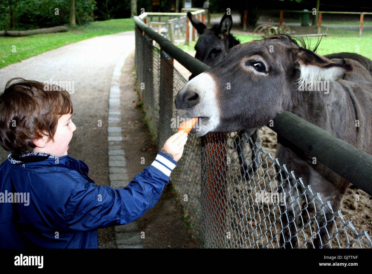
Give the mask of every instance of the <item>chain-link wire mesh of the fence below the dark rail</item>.
[[(161, 149), (177, 132), (174, 98), (187, 80), (138, 28), (135, 35), (138, 88)], [(367, 231), (359, 233), (244, 132), (189, 134), (170, 181), (203, 248), (372, 247)]]

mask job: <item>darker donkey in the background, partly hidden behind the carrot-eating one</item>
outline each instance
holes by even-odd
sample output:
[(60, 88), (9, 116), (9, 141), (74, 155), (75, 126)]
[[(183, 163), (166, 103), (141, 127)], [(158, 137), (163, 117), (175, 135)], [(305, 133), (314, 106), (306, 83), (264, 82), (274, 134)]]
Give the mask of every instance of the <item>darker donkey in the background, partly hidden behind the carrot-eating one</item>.
[[(225, 53), (235, 45), (240, 44), (240, 41), (236, 39), (231, 33), (232, 27), (232, 17), (231, 15), (225, 15), (222, 17), (219, 25), (214, 25), (212, 28), (207, 28), (203, 22), (196, 19), (190, 12), (187, 12), (187, 17), (190, 22), (198, 31), (200, 37), (195, 44), (195, 58), (207, 64), (210, 67), (217, 65), (224, 58)], [(189, 81), (194, 78), (195, 75), (192, 74), (189, 77)], [(237, 150), (238, 159), (241, 163), (242, 173), (248, 179), (249, 175), (257, 171), (259, 165), (259, 158), (256, 157), (259, 154), (259, 148), (252, 146), (252, 163), (249, 167), (249, 163), (246, 160), (247, 155), (244, 148), (248, 142), (248, 138), (252, 138), (253, 144), (257, 142), (260, 143), (259, 129), (245, 129), (238, 133), (234, 138), (234, 145)]]

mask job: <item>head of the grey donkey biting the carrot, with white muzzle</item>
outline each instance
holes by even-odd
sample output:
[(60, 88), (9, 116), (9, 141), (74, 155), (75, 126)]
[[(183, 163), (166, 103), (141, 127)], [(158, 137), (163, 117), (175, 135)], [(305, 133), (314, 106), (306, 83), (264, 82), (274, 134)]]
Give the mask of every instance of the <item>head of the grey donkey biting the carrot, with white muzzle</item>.
[[(262, 127), (294, 105), (304, 104), (299, 81), (332, 81), (352, 70), (302, 47), (289, 35), (274, 35), (231, 48), (199, 74), (174, 100), (179, 114), (199, 119), (196, 136)], [(316, 49), (316, 47), (315, 47)], [(324, 95), (327, 96), (327, 95)]]

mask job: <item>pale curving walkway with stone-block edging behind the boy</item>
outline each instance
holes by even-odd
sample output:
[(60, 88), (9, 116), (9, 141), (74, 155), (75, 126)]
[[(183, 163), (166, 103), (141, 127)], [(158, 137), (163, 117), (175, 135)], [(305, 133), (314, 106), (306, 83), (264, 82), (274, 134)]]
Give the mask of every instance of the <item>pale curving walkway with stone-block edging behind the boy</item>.
[[(0, 69), (0, 92), (14, 77), (74, 83), (71, 100), (77, 130), (68, 154), (87, 163), (89, 176), (96, 184), (113, 188), (129, 183), (125, 152), (119, 149), (123, 147), (122, 130), (117, 125), (125, 119), (120, 111), (120, 94), (125, 91), (120, 89), (119, 79), (126, 57), (134, 51), (134, 41), (134, 31), (94, 37)], [(22, 48), (17, 47), (17, 54), (22, 54)], [(0, 147), (2, 161), (8, 153)], [(106, 236), (112, 232), (114, 238)], [(113, 227), (99, 230), (99, 247), (142, 248), (140, 243), (135, 222), (115, 230)]]

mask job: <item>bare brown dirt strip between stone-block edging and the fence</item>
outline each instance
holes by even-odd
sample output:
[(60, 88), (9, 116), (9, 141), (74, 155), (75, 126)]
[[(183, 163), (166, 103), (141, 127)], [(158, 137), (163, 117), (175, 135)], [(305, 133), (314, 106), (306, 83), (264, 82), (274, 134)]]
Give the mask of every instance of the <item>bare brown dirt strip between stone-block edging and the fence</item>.
[[(122, 117), (125, 117), (122, 119), (122, 127), (126, 168), (128, 177), (133, 178), (154, 161), (158, 151), (151, 142), (144, 114), (139, 108), (139, 95), (134, 80), (134, 52), (125, 63), (130, 65), (122, 70), (121, 90), (132, 90), (132, 93), (121, 96)], [(145, 158), (145, 164), (141, 164), (141, 157)], [(196, 248), (193, 233), (188, 232), (181, 213), (169, 183), (155, 206), (136, 220), (139, 231), (145, 232), (141, 245), (144, 248)]]

